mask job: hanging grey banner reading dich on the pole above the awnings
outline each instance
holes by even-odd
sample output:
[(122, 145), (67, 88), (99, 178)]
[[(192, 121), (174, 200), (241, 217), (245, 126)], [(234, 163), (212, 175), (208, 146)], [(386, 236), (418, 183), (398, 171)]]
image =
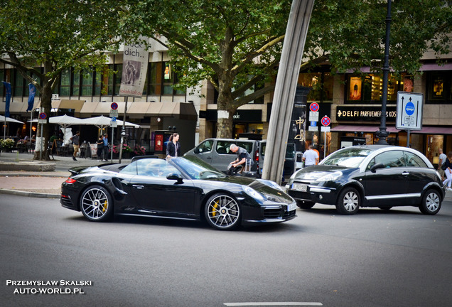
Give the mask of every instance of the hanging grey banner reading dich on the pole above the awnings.
[[(140, 37), (141, 40), (146, 39)], [(119, 96), (141, 97), (148, 70), (149, 51), (144, 43), (125, 43)]]

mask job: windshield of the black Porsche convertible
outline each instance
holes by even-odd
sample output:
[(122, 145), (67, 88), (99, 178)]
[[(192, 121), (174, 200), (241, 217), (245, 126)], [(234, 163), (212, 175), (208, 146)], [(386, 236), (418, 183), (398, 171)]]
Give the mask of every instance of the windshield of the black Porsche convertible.
[(184, 156), (173, 158), (173, 163), (182, 168), (192, 179), (208, 179), (225, 177), (225, 174), (218, 171), (210, 164), (195, 156)]

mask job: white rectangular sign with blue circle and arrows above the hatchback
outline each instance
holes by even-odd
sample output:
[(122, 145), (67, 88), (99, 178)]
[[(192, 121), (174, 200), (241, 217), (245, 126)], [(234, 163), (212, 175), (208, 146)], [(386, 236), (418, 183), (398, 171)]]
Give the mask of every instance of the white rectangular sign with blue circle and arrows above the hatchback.
[(397, 92), (396, 128), (421, 130), (424, 95), (414, 92)]

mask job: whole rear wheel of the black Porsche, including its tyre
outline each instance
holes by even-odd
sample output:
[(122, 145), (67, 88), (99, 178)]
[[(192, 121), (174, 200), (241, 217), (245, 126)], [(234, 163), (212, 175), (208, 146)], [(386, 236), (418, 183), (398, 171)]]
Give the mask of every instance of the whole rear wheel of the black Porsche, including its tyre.
[(88, 220), (109, 220), (113, 213), (113, 202), (109, 192), (100, 185), (87, 188), (80, 198), (80, 210)]

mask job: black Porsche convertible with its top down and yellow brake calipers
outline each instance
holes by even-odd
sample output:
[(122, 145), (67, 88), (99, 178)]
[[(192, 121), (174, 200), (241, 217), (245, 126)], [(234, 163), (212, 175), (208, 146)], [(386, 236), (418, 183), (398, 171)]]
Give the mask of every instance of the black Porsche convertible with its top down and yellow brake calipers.
[(226, 176), (196, 157), (144, 157), (69, 171), (60, 203), (91, 221), (113, 215), (205, 219), (215, 229), (230, 230), (296, 217), (295, 200), (276, 183)]

